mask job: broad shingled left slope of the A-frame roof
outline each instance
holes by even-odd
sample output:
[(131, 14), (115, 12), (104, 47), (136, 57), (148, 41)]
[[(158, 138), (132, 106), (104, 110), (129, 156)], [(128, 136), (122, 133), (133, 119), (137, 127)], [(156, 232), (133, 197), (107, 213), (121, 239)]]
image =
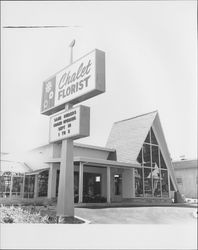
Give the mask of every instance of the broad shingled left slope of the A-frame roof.
[(115, 122), (106, 146), (115, 148), (117, 160), (137, 163), (136, 159), (157, 115), (157, 111)]

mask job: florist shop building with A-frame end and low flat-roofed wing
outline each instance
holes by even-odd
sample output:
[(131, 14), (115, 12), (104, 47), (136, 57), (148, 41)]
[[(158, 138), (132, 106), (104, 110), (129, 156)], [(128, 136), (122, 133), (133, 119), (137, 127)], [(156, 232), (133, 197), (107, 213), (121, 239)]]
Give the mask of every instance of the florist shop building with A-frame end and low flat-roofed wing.
[[(27, 152), (13, 168), (8, 158), (2, 161), (1, 197), (57, 197), (61, 143)], [(115, 122), (106, 147), (74, 143), (76, 203), (168, 202), (177, 190), (157, 111)]]

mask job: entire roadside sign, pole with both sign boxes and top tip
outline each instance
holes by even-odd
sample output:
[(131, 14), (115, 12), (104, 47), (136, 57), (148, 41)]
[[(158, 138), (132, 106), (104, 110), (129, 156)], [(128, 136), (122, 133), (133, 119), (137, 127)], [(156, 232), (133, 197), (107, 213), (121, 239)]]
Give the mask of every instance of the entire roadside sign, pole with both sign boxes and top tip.
[[(41, 114), (50, 116), (49, 142), (61, 142), (57, 217), (74, 217), (73, 140), (90, 134), (90, 108), (77, 103), (105, 92), (105, 53), (95, 49), (43, 82)], [(61, 112), (59, 112), (61, 111)]]

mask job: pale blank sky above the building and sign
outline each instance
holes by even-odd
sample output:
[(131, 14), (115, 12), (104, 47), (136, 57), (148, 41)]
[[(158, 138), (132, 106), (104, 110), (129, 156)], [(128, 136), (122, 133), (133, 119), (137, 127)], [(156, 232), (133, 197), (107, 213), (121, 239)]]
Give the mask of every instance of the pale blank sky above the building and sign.
[(106, 92), (91, 107), (90, 137), (105, 146), (113, 122), (159, 111), (173, 159), (197, 152), (196, 1), (1, 2), (1, 151), (48, 143), (42, 82), (94, 48), (106, 53)]

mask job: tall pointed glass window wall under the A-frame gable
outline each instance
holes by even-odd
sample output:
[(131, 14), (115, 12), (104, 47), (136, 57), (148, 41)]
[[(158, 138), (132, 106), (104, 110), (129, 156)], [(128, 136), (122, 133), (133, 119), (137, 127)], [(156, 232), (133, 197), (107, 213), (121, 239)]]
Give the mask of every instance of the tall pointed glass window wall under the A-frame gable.
[(136, 197), (168, 197), (168, 170), (152, 128), (139, 152), (137, 161), (141, 164), (142, 171), (135, 169)]

